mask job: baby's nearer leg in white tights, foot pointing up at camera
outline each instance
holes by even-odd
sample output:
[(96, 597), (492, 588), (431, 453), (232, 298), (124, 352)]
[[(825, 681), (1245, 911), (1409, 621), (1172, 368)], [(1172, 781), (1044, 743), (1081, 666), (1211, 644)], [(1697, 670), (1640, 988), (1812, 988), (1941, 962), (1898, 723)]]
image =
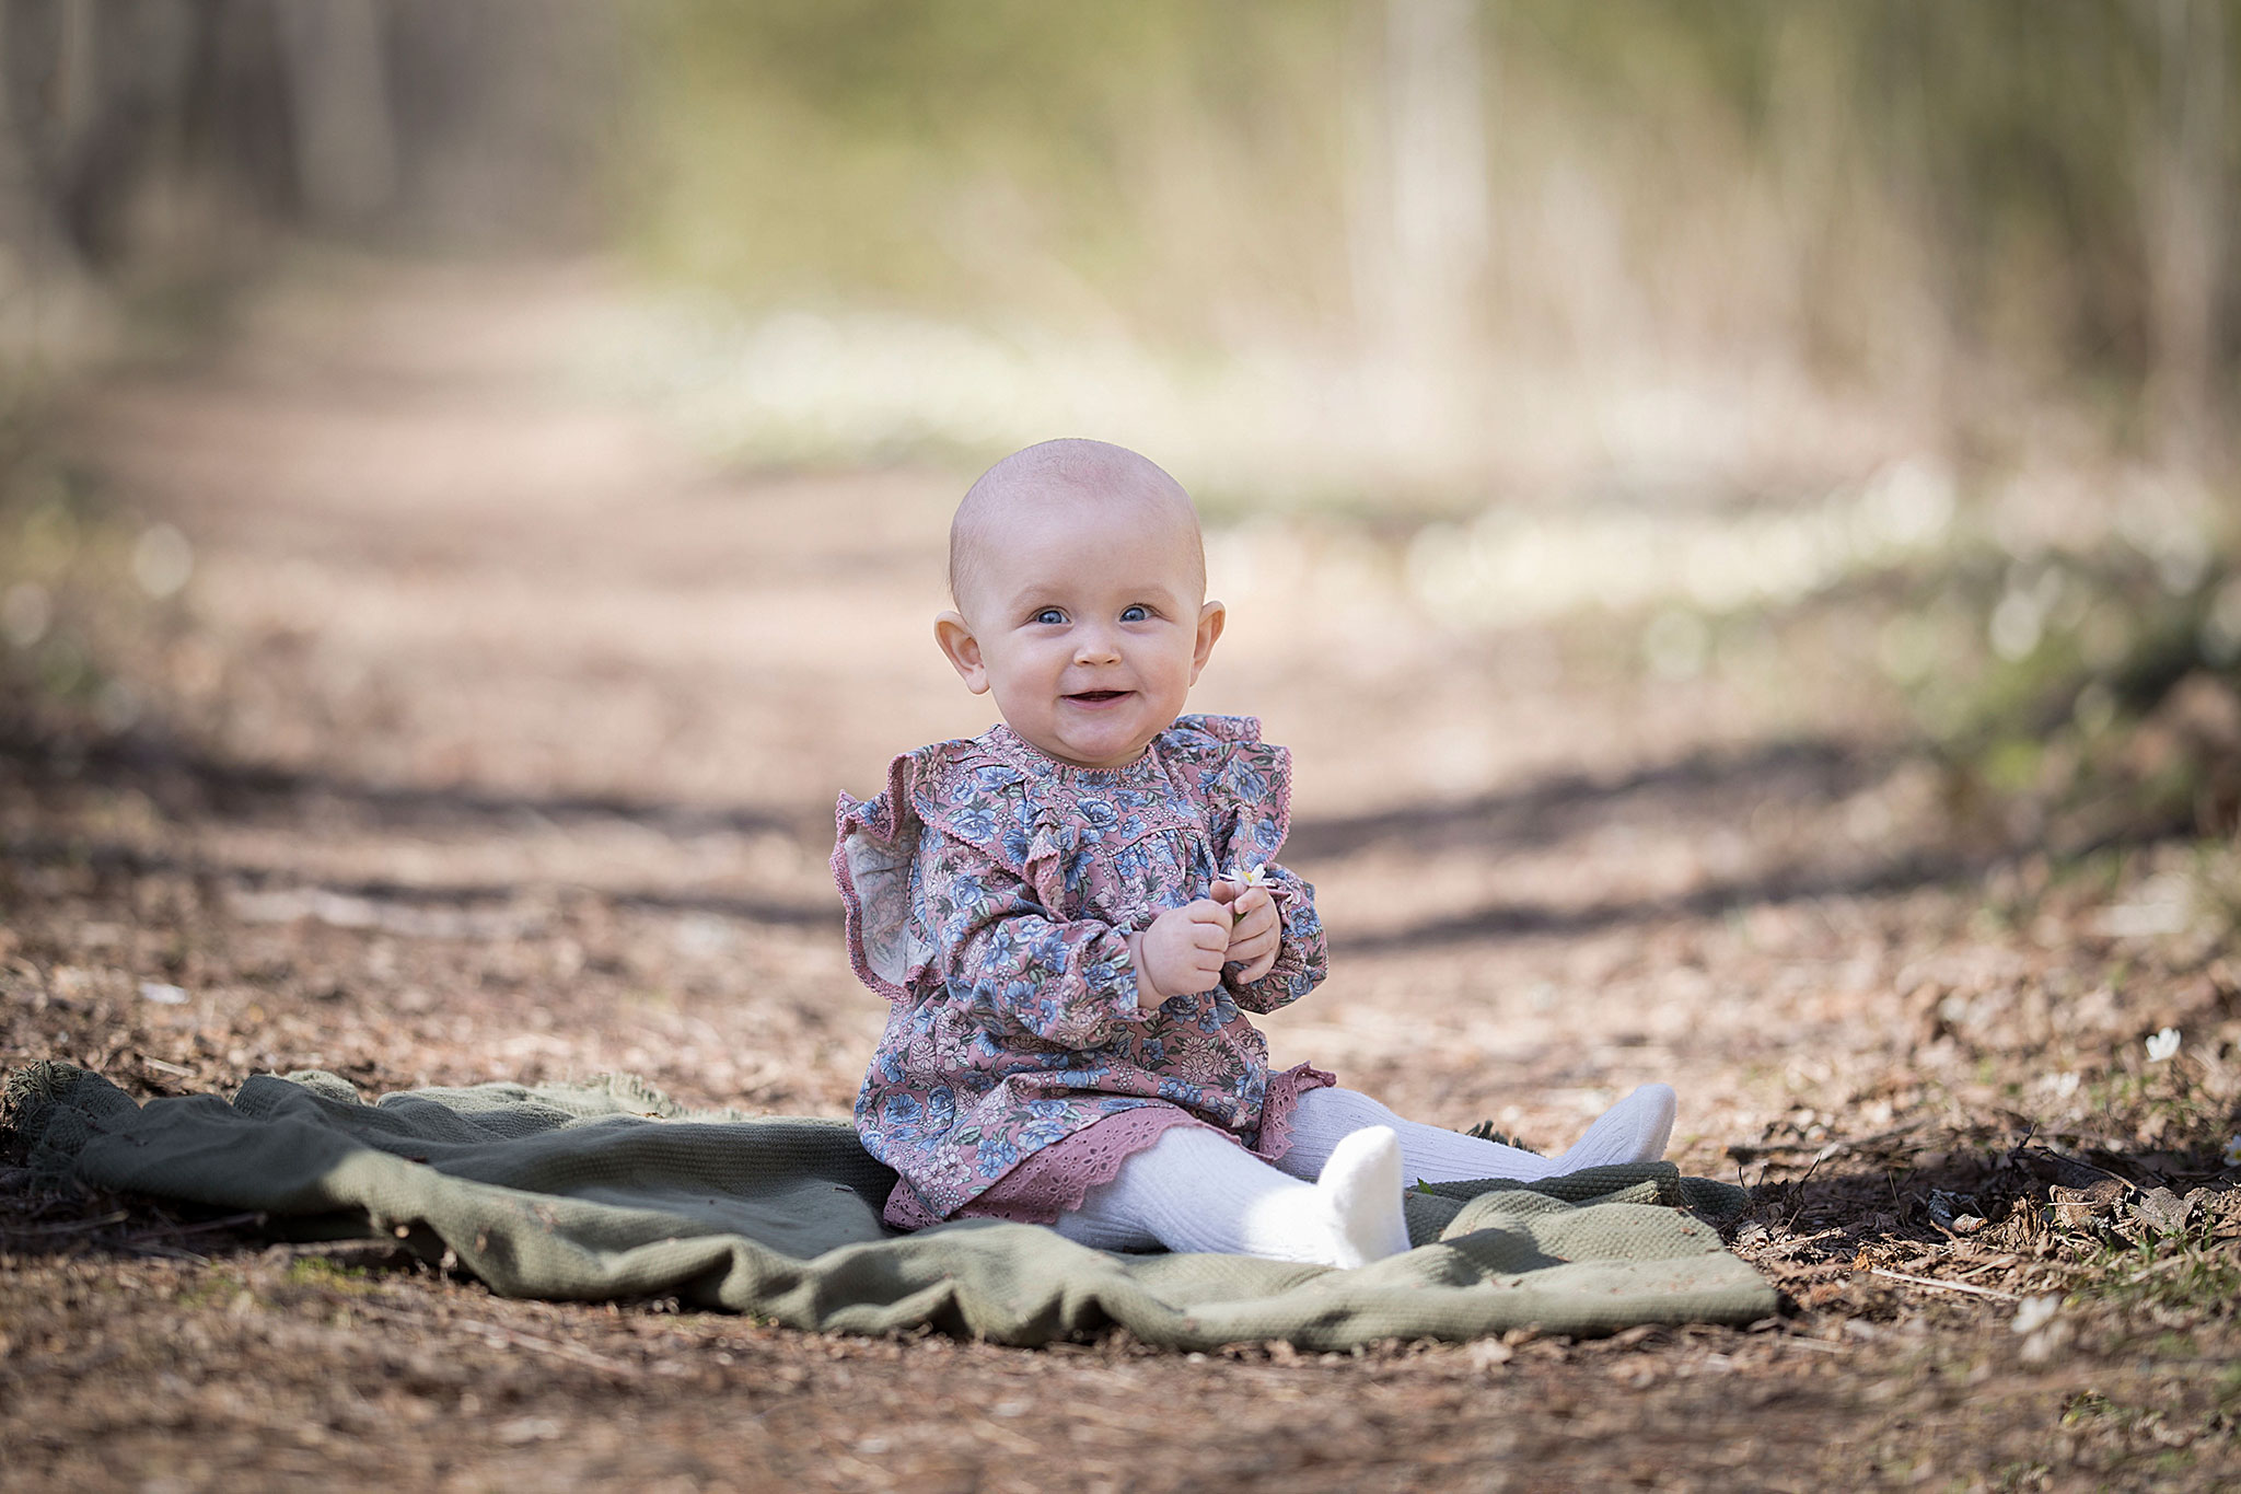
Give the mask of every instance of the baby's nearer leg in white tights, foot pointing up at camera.
[(1172, 1127), (1056, 1227), (1098, 1250), (1165, 1245), (1315, 1266), (1367, 1266), (1407, 1250), (1392, 1131), (1340, 1138), (1318, 1174), (1302, 1183), (1203, 1127)]

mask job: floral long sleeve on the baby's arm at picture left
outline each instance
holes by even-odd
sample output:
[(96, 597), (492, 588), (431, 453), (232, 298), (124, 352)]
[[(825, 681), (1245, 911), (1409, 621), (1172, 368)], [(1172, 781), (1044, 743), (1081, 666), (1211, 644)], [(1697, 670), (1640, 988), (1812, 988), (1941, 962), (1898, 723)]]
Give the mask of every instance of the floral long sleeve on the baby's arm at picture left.
[(932, 827), (919, 856), (921, 898), (939, 918), (930, 963), (975, 1026), (1100, 1048), (1150, 1021), (1125, 930), (1053, 918), (1020, 876)]

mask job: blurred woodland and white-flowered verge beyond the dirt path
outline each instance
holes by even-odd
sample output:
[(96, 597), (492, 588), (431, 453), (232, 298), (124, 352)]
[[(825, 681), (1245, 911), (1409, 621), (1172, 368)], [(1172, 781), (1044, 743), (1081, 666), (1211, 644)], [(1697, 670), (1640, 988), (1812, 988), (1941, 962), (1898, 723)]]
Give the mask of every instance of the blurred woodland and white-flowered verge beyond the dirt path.
[(1096, 432), (1667, 681), (1849, 607), (2086, 844), (2234, 813), (2237, 76), (2234, 0), (0, 0), (0, 347), (601, 255), (726, 461)]

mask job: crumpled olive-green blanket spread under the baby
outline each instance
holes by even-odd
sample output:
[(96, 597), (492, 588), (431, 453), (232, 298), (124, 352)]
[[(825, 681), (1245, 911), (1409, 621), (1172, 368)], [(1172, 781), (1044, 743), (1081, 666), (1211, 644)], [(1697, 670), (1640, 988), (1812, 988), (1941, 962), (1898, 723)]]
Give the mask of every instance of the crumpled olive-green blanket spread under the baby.
[(1670, 1162), (1410, 1194), (1416, 1248), (1329, 1270), (1109, 1254), (1038, 1225), (878, 1223), (894, 1174), (840, 1120), (686, 1113), (630, 1080), (480, 1084), (368, 1104), (327, 1073), (137, 1104), (69, 1064), (7, 1084), (36, 1178), (255, 1210), (305, 1232), (394, 1232), (506, 1297), (675, 1295), (836, 1333), (930, 1324), (1042, 1344), (1114, 1324), (1150, 1344), (1349, 1348), (1517, 1326), (1746, 1324), (1775, 1290), (1705, 1216), (1741, 1189)]

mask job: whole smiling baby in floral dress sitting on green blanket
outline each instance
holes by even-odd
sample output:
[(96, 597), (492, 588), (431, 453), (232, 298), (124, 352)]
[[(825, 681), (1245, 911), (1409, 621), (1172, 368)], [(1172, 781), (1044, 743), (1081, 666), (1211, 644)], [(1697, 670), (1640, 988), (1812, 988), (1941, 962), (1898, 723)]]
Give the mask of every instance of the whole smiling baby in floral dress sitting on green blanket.
[(1291, 755), (1179, 715), (1224, 607), (1168, 473), (1103, 441), (1004, 457), (950, 524), (950, 598), (934, 638), (1004, 723), (838, 806), (849, 954), (892, 1001), (856, 1098), (901, 1174), (887, 1223), (1363, 1266), (1407, 1250), (1412, 1178), (1663, 1156), (1663, 1084), (1542, 1158), (1268, 1071), (1246, 1012), (1322, 981), (1322, 921), (1275, 865)]

